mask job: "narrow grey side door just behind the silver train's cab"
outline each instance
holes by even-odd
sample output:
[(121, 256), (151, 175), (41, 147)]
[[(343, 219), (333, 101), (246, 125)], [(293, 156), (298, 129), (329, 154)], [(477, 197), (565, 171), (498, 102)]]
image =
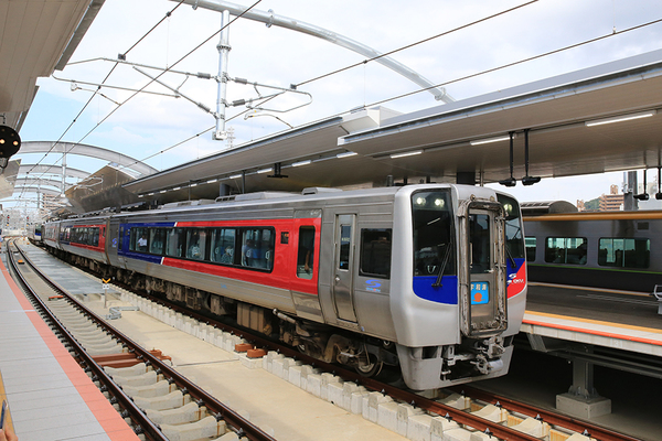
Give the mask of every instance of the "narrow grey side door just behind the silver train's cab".
[(338, 319), (356, 322), (354, 312), (355, 214), (335, 214), (331, 292)]

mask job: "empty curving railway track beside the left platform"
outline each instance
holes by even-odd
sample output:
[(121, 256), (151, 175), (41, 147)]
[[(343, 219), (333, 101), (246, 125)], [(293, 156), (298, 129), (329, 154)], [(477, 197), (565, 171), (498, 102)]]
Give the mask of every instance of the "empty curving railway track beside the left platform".
[[(7, 255), (35, 310), (136, 433), (148, 440), (274, 440), (65, 292), (15, 244)], [(137, 358), (134, 367), (105, 369), (97, 363), (128, 354)]]

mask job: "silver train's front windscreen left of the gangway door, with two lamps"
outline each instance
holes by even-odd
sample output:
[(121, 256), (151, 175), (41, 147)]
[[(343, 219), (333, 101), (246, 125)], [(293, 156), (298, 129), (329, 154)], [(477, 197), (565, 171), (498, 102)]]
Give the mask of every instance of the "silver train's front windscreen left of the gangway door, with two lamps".
[[(456, 273), (452, 240), (452, 211), (449, 191), (417, 192), (412, 195), (414, 216), (414, 275)], [(445, 259), (446, 255), (449, 259)]]

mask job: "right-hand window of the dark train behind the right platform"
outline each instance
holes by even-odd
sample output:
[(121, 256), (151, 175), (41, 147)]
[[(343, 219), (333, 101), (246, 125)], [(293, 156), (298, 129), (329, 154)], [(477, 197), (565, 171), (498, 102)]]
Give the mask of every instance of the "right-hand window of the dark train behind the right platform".
[(649, 239), (602, 238), (598, 245), (598, 265), (623, 268), (648, 268), (651, 241)]

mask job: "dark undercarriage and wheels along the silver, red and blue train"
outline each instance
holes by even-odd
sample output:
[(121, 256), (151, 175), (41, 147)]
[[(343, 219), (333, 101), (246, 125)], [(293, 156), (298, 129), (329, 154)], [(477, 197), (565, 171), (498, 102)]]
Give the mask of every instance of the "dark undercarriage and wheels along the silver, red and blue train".
[[(365, 377), (378, 376), (384, 370), (393, 380), (402, 378), (403, 375), (412, 378), (416, 373), (420, 376), (421, 372), (425, 372), (424, 377), (438, 378), (439, 381), (451, 385), (466, 383), (468, 378), (476, 376), (502, 375), (499, 373), (504, 373), (504, 368), (508, 372), (510, 364), (512, 337), (505, 341), (499, 336), (467, 338), (459, 345), (405, 347), (394, 342), (342, 331), (324, 323), (302, 320), (278, 310), (106, 266), (50, 247), (49, 250), (104, 279), (110, 278), (191, 311), (229, 321), (239, 327), (280, 341), (310, 357), (353, 368)], [(433, 380), (434, 384), (435, 381)], [(420, 387), (426, 388), (429, 387)]]

